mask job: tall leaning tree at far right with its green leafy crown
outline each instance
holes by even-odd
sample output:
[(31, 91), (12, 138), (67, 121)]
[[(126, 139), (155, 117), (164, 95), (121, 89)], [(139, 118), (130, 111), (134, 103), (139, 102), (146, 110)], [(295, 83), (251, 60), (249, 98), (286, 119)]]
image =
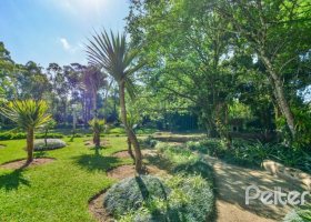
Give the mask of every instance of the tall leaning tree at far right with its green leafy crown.
[[(297, 133), (294, 114), (284, 91), (284, 69), (310, 50), (310, 3), (304, 0), (210, 1), (231, 23), (232, 32), (245, 39), (267, 69), (277, 104), (292, 138)], [(225, 31), (225, 30), (223, 30)]]

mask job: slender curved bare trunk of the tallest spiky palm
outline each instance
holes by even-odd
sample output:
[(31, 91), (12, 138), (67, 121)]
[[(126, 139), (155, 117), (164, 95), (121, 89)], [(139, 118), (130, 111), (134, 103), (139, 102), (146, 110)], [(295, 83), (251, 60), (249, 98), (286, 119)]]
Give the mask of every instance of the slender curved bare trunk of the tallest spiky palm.
[(119, 91), (120, 91), (120, 108), (121, 108), (121, 119), (124, 124), (126, 132), (128, 134), (128, 138), (130, 139), (131, 143), (134, 147), (134, 153), (136, 153), (136, 171), (138, 173), (142, 172), (142, 155), (139, 147), (139, 142), (137, 140), (137, 137), (131, 128), (128, 125), (127, 121), (127, 108), (126, 108), (126, 93), (124, 93), (126, 83), (124, 81), (121, 81), (119, 83)]

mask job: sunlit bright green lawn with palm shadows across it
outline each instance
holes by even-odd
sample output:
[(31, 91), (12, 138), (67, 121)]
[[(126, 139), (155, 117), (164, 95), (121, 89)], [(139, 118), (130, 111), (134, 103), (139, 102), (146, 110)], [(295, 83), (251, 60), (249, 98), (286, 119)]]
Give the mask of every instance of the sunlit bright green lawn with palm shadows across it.
[[(90, 139), (90, 138), (89, 138)], [(24, 170), (0, 169), (0, 221), (94, 221), (88, 200), (114, 181), (106, 171), (131, 162), (111, 153), (126, 149), (126, 138), (109, 138), (110, 145), (96, 152), (74, 139), (68, 147), (37, 155), (56, 158)], [(68, 139), (66, 139), (68, 141)], [(26, 158), (24, 141), (1, 141), (0, 164)]]

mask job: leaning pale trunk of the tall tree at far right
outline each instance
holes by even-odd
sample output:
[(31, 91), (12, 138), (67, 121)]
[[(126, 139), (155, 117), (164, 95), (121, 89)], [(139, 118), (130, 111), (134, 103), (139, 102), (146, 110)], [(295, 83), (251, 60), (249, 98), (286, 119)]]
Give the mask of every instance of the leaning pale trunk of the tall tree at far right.
[(279, 75), (277, 74), (275, 70), (273, 69), (270, 60), (264, 56), (264, 52), (261, 51), (260, 57), (269, 72), (270, 81), (272, 84), (273, 93), (275, 95), (278, 105), (279, 105), (282, 114), (284, 115), (284, 118), (287, 120), (287, 124), (290, 129), (291, 135), (294, 139), (294, 135), (295, 135), (294, 118), (293, 118), (293, 113), (290, 110), (290, 105), (285, 99), (282, 82), (281, 82)]

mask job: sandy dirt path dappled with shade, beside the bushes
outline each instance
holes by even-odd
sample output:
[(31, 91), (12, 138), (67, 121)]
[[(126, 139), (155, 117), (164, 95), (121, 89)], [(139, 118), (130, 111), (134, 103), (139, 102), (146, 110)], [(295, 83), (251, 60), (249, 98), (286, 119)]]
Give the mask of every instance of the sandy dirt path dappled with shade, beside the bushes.
[(214, 169), (218, 222), (281, 221), (291, 210), (289, 205), (264, 205), (260, 200), (250, 201), (247, 205), (245, 188), (248, 185), (255, 184), (261, 191), (273, 191), (274, 186), (281, 186), (285, 191), (301, 190), (265, 171), (225, 164), (211, 157), (204, 158)]

